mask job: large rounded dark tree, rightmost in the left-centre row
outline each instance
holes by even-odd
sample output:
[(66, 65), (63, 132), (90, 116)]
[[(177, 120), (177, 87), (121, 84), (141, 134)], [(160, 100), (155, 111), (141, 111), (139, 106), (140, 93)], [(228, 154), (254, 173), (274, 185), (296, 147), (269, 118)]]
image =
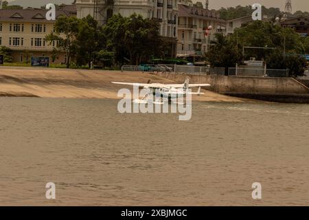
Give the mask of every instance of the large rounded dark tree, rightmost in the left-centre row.
[(163, 50), (159, 23), (155, 19), (143, 19), (137, 14), (130, 17), (115, 14), (104, 25), (103, 32), (106, 50), (115, 52), (115, 60), (121, 65), (126, 57), (132, 65), (137, 65)]

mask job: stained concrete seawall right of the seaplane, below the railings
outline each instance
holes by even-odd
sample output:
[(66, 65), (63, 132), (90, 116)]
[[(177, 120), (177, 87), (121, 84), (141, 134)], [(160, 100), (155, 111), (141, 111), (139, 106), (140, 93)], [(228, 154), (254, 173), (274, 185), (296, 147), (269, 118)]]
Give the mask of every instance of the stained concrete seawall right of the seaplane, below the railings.
[(209, 90), (219, 94), (254, 98), (275, 102), (309, 103), (309, 89), (294, 78), (262, 78), (248, 76), (216, 76), (159, 74), (165, 78), (183, 83), (190, 76), (190, 83), (209, 83)]

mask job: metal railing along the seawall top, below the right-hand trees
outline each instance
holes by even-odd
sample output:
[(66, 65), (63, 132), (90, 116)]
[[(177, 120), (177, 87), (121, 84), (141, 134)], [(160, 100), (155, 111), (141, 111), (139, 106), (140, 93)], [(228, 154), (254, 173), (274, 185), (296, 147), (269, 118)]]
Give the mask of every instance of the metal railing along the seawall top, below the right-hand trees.
[(288, 77), (288, 69), (229, 68), (229, 76)]

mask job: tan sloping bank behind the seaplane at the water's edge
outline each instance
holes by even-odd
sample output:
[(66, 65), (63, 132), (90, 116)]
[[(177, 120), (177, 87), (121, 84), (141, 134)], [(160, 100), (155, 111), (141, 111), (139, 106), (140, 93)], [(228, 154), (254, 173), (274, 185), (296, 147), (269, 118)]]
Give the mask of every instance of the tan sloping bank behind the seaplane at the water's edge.
[[(134, 83), (174, 83), (172, 80), (141, 72), (41, 67), (0, 67), (0, 96), (41, 98), (117, 99), (124, 85), (112, 81)], [(127, 88), (131, 89), (130, 86)], [(205, 94), (192, 100), (209, 102), (244, 102), (243, 98), (223, 96), (202, 89)]]

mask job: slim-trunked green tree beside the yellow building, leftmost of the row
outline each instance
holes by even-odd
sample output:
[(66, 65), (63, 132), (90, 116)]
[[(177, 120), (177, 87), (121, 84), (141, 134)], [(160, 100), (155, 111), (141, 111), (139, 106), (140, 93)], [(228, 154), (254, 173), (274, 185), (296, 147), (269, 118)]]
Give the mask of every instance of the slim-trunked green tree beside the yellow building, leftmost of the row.
[(46, 41), (52, 44), (53, 41), (58, 41), (58, 49), (65, 51), (67, 55), (67, 68), (69, 68), (73, 52), (76, 51), (76, 34), (80, 20), (76, 17), (60, 16), (56, 19), (55, 32), (45, 36)]

